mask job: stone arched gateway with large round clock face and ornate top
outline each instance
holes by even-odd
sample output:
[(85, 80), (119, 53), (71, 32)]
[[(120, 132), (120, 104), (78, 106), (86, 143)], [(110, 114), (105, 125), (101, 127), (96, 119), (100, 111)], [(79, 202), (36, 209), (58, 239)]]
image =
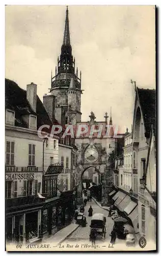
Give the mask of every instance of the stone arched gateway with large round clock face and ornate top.
[[(95, 125), (95, 129), (99, 129), (99, 125), (106, 125), (106, 122), (94, 121), (94, 113), (91, 112), (89, 127)], [(87, 122), (81, 122), (86, 124)], [(92, 138), (89, 134), (75, 139), (77, 147), (76, 152), (76, 176), (77, 176), (77, 203), (83, 203), (83, 175), (91, 168), (99, 173), (99, 183), (102, 185), (101, 204), (108, 205), (108, 194), (112, 190), (113, 185), (113, 171), (111, 169), (111, 155), (115, 150), (116, 139), (111, 137), (98, 137), (98, 133), (94, 133)]]

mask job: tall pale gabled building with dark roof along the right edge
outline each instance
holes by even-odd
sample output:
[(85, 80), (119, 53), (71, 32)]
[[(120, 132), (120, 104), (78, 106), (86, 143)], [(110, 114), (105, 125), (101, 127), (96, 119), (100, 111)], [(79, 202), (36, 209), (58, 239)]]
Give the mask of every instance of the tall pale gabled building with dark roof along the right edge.
[(156, 243), (156, 95), (136, 89), (132, 145), (137, 152), (139, 233)]

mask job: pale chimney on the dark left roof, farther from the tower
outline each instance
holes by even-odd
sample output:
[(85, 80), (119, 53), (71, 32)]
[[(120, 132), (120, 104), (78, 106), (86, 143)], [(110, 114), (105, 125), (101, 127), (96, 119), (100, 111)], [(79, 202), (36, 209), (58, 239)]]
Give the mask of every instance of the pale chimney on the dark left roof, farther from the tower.
[(37, 103), (37, 84), (31, 82), (26, 86), (26, 97), (29, 101), (32, 109), (36, 113), (36, 103)]

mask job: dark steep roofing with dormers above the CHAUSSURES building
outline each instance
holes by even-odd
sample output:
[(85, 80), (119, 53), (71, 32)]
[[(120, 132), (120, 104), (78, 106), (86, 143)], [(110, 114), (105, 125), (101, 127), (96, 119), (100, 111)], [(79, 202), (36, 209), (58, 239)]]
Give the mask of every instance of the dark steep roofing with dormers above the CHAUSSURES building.
[[(23, 116), (30, 114), (37, 116), (37, 129), (43, 124), (52, 126), (52, 121), (40, 98), (37, 96), (35, 113), (26, 99), (26, 91), (9, 79), (5, 79), (5, 108), (15, 111), (15, 126), (28, 128)], [(56, 119), (53, 120), (53, 123), (59, 124)]]

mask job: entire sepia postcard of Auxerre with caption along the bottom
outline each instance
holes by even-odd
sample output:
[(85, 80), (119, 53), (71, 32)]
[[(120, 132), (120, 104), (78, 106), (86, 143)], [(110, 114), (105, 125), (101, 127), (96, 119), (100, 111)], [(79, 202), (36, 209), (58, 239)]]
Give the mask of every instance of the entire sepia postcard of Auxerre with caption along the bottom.
[(7, 251), (156, 250), (155, 6), (6, 6)]

